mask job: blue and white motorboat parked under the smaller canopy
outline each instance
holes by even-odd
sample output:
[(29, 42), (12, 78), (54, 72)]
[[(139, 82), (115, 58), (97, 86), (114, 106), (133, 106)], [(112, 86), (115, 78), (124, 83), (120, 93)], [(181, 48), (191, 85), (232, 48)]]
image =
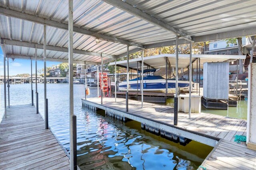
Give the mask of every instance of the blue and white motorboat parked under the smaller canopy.
[[(137, 81), (138, 79), (138, 81)], [(138, 83), (137, 83), (138, 82)], [(175, 93), (175, 79), (168, 79), (168, 93)], [(189, 87), (189, 81), (178, 80), (178, 87), (180, 90)], [(129, 80), (129, 91), (134, 92), (140, 90), (140, 77)], [(119, 83), (119, 90), (126, 91), (127, 90), (127, 82)], [(166, 92), (166, 79), (162, 76), (144, 76), (143, 77), (143, 91), (144, 92)]]

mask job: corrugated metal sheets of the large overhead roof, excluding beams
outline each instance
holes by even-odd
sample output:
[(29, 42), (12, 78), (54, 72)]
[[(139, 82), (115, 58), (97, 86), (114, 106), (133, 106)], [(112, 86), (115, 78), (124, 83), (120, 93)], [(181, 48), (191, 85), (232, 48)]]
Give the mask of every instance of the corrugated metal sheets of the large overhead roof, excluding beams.
[[(186, 35), (202, 36), (256, 26), (254, 0), (128, 0), (125, 1)], [(46, 20), (68, 24), (68, 1), (0, 0), (0, 7)], [(0, 37), (43, 43), (43, 25), (0, 15)], [(74, 1), (74, 26), (112, 37), (148, 45), (174, 39), (176, 35), (100, 0)], [(47, 45), (68, 48), (68, 31), (47, 26)], [(130, 50), (136, 49), (130, 46)], [(126, 45), (74, 33), (74, 49), (120, 55)], [(34, 49), (6, 45), (6, 53), (34, 55)], [(48, 51), (51, 58), (68, 59), (68, 53)], [(42, 55), (42, 49), (38, 49)], [(79, 61), (100, 62), (100, 57), (75, 54)], [(108, 60), (104, 57), (104, 61)]]

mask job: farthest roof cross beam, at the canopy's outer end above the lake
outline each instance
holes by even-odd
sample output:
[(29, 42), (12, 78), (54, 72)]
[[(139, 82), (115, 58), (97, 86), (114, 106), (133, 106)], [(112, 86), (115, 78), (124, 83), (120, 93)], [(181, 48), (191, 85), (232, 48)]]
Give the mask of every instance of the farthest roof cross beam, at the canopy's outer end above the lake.
[[(17, 54), (6, 54), (8, 55), (9, 58), (12, 59), (26, 59), (26, 60), (34, 60), (34, 56), (29, 56), (29, 55), (17, 55)], [(44, 57), (37, 57), (37, 60), (39, 61), (44, 61)], [(46, 61), (54, 61), (54, 62), (62, 62), (62, 63), (68, 63), (68, 59), (54, 59), (54, 58), (46, 58)], [(74, 63), (78, 64), (84, 64), (84, 61), (77, 61), (73, 60)], [(96, 62), (86, 62), (86, 64), (98, 64)]]

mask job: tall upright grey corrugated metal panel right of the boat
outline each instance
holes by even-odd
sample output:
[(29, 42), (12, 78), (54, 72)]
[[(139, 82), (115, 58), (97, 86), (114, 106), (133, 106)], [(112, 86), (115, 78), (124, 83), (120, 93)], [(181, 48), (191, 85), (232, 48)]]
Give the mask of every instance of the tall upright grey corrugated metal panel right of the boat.
[(229, 63), (204, 63), (203, 81), (204, 98), (228, 100)]

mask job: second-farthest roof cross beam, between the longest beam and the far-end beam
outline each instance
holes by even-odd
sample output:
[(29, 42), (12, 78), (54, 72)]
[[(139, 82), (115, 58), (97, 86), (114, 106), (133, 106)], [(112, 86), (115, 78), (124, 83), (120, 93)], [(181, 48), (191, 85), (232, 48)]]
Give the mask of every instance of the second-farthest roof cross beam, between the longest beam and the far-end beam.
[[(38, 49), (44, 49), (43, 44), (37, 44), (37, 43), (29, 43), (26, 41), (16, 41), (16, 40), (10, 40), (10, 39), (5, 39), (6, 45), (14, 45), (14, 46), (20, 46), (20, 47), (29, 47), (29, 48), (35, 48), (35, 45), (37, 45)], [(52, 45), (46, 45), (46, 50), (51, 50), (51, 51), (60, 51), (60, 52), (66, 52), (68, 53), (68, 48), (65, 47), (56, 47)], [(92, 52), (92, 51), (83, 51), (83, 50), (77, 50), (73, 49), (74, 54), (82, 54), (82, 55), (92, 55), (92, 56), (97, 56), (100, 57), (100, 53)], [(115, 55), (109, 55), (109, 54), (102, 54), (103, 57), (115, 59)]]

